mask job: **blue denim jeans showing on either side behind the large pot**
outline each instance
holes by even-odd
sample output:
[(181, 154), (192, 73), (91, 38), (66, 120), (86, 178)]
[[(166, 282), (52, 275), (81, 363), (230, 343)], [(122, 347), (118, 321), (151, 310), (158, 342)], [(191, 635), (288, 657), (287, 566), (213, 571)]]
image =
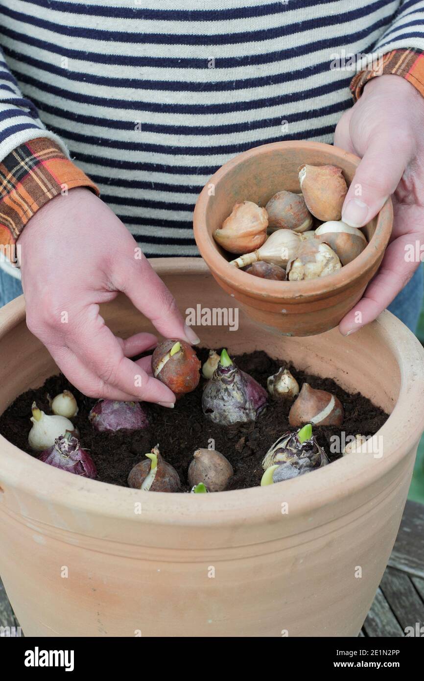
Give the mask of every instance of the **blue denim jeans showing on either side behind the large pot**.
[[(406, 287), (396, 296), (395, 300), (389, 305), (389, 310), (398, 317), (404, 324), (415, 333), (423, 304), (424, 291), (424, 270), (420, 265), (417, 272)], [(10, 300), (20, 296), (22, 286), (20, 280), (15, 279), (10, 274), (3, 272), (0, 268), (0, 307)]]

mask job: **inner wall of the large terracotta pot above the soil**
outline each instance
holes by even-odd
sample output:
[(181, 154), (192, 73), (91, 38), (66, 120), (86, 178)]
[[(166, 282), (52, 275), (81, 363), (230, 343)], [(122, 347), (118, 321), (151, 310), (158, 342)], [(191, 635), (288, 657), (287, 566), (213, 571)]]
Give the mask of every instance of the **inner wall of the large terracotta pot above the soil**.
[[(401, 385), (399, 364), (395, 350), (382, 341), (378, 321), (347, 338), (338, 329), (319, 336), (280, 336), (247, 317), (237, 301), (216, 284), (200, 259), (169, 258), (152, 263), (174, 294), (183, 317), (197, 306), (238, 310), (238, 330), (224, 326), (195, 327), (203, 347), (227, 347), (234, 354), (264, 350), (274, 358), (291, 360), (297, 368), (333, 378), (349, 392), (361, 392), (388, 413), (393, 410)], [(46, 348), (27, 329), (23, 296), (0, 314), (3, 319), (5, 315), (9, 317), (0, 332), (0, 353), (7, 357), (0, 373), (3, 412), (20, 393), (39, 387), (58, 369)], [(122, 338), (135, 332), (154, 332), (152, 323), (123, 295), (101, 306), (101, 315)]]

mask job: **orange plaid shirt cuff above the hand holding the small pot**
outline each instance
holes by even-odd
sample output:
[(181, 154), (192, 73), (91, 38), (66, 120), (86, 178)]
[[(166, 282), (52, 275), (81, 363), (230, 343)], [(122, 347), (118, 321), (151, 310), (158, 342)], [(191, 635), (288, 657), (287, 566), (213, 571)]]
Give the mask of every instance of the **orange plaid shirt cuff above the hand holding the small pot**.
[(353, 99), (357, 101), (361, 97), (363, 87), (368, 83), (368, 80), (385, 74), (406, 78), (424, 97), (424, 52), (420, 50), (392, 50), (378, 59), (375, 68), (365, 69), (365, 71), (354, 76), (350, 82)]

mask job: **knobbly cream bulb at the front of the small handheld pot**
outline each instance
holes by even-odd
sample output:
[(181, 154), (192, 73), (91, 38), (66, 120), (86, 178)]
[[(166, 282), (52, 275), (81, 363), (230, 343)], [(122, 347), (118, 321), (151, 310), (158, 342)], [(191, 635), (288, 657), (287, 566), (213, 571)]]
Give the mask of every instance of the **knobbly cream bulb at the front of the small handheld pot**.
[(287, 274), (289, 281), (304, 281), (328, 276), (341, 267), (338, 256), (327, 244), (314, 244), (312, 239), (309, 239), (287, 265)]

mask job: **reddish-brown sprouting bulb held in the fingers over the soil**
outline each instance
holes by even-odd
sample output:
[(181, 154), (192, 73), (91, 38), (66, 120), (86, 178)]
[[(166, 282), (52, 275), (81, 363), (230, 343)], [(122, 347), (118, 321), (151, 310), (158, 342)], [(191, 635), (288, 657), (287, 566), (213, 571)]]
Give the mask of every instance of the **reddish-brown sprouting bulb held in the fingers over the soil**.
[(200, 380), (200, 367), (201, 362), (191, 345), (178, 338), (163, 340), (152, 354), (154, 378), (165, 383), (176, 396), (195, 390)]

